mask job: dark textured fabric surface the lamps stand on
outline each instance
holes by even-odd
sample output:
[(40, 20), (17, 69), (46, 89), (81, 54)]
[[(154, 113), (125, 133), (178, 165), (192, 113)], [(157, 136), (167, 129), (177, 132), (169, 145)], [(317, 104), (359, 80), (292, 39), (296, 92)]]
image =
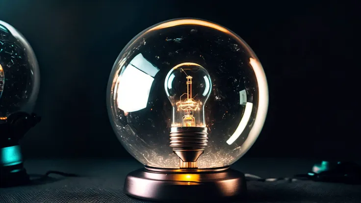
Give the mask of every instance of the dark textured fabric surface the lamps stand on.
[[(233, 168), (262, 178), (290, 177), (307, 173), (313, 161), (245, 159)], [(143, 203), (123, 193), (124, 178), (142, 166), (134, 160), (27, 160), (31, 185), (0, 188), (0, 203)], [(49, 170), (81, 177), (50, 175)], [(248, 197), (257, 203), (360, 203), (361, 186), (298, 180), (287, 182), (248, 181)]]

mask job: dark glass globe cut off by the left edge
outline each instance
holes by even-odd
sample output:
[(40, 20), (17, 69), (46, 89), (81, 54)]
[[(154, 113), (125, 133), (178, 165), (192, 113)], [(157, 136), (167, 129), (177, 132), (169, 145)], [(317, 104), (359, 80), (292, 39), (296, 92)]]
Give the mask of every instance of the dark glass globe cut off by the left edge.
[(0, 118), (31, 113), (39, 91), (39, 67), (24, 36), (0, 21)]

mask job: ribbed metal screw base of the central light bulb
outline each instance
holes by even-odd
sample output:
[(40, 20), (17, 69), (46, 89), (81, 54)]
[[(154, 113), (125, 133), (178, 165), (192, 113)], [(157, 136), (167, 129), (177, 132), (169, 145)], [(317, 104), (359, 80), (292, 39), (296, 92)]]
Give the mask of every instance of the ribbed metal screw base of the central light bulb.
[(180, 157), (180, 168), (197, 168), (197, 160), (205, 151), (208, 137), (206, 127), (172, 127), (173, 152)]

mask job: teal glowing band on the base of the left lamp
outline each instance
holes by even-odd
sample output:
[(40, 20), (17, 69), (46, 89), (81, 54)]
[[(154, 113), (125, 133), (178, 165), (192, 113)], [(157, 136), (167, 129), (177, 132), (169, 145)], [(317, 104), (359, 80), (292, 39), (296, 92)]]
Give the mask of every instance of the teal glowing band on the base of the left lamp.
[(0, 164), (2, 166), (12, 166), (23, 162), (20, 146), (2, 148), (0, 151)]

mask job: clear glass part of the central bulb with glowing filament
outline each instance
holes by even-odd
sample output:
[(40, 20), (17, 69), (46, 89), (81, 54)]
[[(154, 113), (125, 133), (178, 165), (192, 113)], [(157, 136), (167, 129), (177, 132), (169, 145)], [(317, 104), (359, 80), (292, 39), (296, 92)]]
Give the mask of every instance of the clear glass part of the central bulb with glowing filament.
[(172, 103), (172, 127), (206, 127), (204, 109), (211, 84), (206, 69), (196, 63), (181, 63), (168, 72), (164, 89)]

